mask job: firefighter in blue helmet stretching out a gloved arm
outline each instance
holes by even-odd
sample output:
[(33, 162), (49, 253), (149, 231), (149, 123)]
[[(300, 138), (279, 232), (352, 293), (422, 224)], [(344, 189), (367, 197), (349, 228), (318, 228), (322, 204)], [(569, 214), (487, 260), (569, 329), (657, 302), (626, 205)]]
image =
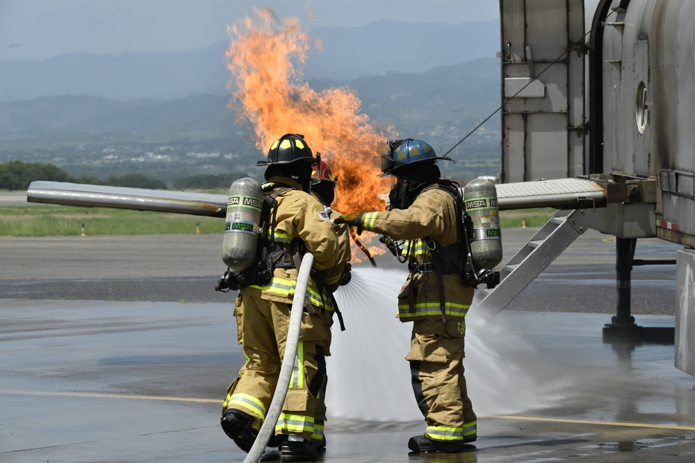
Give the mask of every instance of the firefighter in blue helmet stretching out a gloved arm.
[[(410, 363), (412, 385), (427, 428), (411, 437), (415, 452), (457, 453), (472, 448), (477, 418), (464, 377), (465, 317), (473, 287), (459, 276), (461, 243), (453, 191), (446, 188), (430, 144), (420, 140), (389, 142), (382, 172), (392, 176), (389, 211), (345, 214), (336, 223), (357, 226), (358, 233), (382, 233), (389, 249), (407, 240), (402, 251), (409, 276), (398, 295), (398, 317), (413, 322)], [(395, 180), (395, 182), (393, 181)]]

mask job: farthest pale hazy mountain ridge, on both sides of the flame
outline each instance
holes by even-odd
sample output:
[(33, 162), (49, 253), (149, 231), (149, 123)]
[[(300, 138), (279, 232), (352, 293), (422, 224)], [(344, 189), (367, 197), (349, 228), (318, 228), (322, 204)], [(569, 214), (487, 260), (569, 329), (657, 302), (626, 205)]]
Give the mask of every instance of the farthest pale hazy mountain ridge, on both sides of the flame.
[[(323, 50), (313, 53), (305, 78), (352, 81), (388, 72), (419, 74), (434, 67), (493, 58), (499, 22), (411, 24), (382, 21), (358, 28), (311, 31)], [(47, 60), (0, 61), (0, 101), (40, 96), (105, 99), (177, 99), (190, 94), (226, 94), (229, 44), (180, 53), (71, 53)]]

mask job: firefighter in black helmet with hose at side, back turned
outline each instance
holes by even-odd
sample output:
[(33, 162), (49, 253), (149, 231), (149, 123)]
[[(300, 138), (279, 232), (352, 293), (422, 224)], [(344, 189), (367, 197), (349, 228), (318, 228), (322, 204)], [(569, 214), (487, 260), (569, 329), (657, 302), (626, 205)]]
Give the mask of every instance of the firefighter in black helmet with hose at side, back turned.
[[(295, 371), (275, 426), (275, 441), (282, 461), (316, 459), (314, 434), (316, 397), (325, 382), (324, 344), (328, 337), (323, 310), (333, 310), (327, 289), (336, 287), (341, 269), (336, 269), (338, 238), (323, 206), (309, 194), (311, 166), (316, 163), (302, 135), (279, 138), (268, 152), (264, 194), (277, 201), (272, 244), (265, 249), (274, 262), (268, 273), (258, 271), (240, 285), (236, 314), (247, 359), (240, 376), (227, 389), (222, 405), (224, 432), (243, 451), (250, 451), (270, 406), (280, 372), (297, 267), (301, 256), (314, 256), (300, 328)], [(265, 278), (264, 278), (265, 277)]]

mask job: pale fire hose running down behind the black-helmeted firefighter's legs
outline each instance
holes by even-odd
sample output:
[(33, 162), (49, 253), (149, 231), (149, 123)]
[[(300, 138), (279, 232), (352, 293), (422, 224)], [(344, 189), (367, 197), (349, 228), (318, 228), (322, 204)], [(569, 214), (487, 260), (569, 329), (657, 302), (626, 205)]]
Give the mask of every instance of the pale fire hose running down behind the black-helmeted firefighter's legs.
[(312, 266), (313, 255), (311, 253), (304, 254), (302, 264), (300, 265), (300, 271), (297, 274), (297, 286), (295, 287), (295, 295), (292, 301), (290, 326), (287, 330), (287, 340), (285, 343), (285, 355), (282, 357), (275, 393), (272, 394), (272, 401), (270, 401), (268, 413), (265, 414), (265, 421), (263, 421), (259, 435), (256, 437), (256, 441), (251, 447), (249, 454), (246, 455), (244, 463), (258, 463), (263, 456), (265, 446), (268, 445), (270, 436), (275, 434), (275, 425), (282, 411), (282, 405), (285, 403), (287, 389), (290, 385), (292, 371), (295, 367), (297, 345), (300, 340), (300, 326), (302, 325), (302, 313), (304, 312), (304, 296), (306, 296), (306, 287), (309, 285), (309, 275)]

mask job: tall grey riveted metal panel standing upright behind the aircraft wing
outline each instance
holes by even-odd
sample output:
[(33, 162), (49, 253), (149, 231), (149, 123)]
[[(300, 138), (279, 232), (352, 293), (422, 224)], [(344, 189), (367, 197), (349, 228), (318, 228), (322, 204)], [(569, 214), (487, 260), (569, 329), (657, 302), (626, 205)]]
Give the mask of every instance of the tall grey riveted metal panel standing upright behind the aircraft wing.
[(584, 175), (584, 3), (500, 5), (502, 183)]

